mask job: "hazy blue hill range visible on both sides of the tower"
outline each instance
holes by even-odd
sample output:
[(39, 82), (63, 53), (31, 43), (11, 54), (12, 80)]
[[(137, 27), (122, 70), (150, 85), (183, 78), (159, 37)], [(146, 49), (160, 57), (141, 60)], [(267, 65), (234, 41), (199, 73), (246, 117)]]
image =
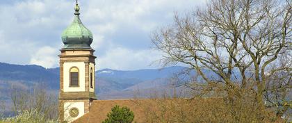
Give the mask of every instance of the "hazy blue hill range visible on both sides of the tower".
[[(99, 99), (131, 98), (139, 90), (161, 88), (168, 78), (181, 72), (185, 67), (163, 69), (138, 69), (122, 71), (101, 69), (96, 72), (96, 95)], [(154, 84), (156, 83), (156, 84)], [(9, 99), (10, 88), (31, 89), (35, 84), (44, 84), (49, 92), (58, 94), (59, 68), (46, 69), (38, 65), (13, 65), (0, 63), (0, 100)], [(115, 93), (118, 94), (114, 95)], [(131, 93), (131, 95), (129, 94)], [(145, 95), (145, 94), (143, 94)]]

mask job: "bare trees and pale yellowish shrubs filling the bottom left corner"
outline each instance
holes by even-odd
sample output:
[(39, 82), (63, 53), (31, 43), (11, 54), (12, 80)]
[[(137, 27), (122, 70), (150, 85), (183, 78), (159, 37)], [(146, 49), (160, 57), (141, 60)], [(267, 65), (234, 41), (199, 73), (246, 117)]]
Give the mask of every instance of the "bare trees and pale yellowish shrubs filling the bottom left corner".
[[(5, 116), (6, 110), (13, 110), (13, 116)], [(58, 98), (47, 92), (42, 85), (36, 85), (29, 90), (12, 87), (10, 101), (0, 105), (0, 122), (58, 122)]]

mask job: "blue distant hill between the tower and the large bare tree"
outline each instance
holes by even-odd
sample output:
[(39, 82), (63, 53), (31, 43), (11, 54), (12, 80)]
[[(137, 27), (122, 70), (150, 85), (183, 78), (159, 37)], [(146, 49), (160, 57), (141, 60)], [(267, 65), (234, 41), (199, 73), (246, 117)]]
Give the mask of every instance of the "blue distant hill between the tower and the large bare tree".
[(97, 71), (97, 97), (99, 99), (146, 98), (154, 90), (167, 87), (170, 77), (182, 72), (186, 67), (166, 67), (163, 69), (139, 69), (120, 71), (101, 69)]

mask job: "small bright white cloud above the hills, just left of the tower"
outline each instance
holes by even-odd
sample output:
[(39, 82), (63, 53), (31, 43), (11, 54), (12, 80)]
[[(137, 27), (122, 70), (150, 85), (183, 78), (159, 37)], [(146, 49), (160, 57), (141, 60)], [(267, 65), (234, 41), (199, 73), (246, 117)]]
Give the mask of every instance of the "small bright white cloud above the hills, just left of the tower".
[(52, 47), (40, 47), (35, 54), (31, 56), (30, 64), (41, 65), (49, 68), (56, 66), (58, 62), (56, 49)]

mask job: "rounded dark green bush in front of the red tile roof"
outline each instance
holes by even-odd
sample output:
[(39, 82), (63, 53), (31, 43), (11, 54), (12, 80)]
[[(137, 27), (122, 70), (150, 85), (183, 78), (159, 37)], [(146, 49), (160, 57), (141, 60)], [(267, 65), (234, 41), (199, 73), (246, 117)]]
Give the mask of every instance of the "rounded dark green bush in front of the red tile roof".
[(111, 112), (108, 113), (108, 118), (102, 123), (131, 123), (133, 122), (133, 112), (125, 107), (120, 108), (120, 106), (114, 106), (111, 108)]

